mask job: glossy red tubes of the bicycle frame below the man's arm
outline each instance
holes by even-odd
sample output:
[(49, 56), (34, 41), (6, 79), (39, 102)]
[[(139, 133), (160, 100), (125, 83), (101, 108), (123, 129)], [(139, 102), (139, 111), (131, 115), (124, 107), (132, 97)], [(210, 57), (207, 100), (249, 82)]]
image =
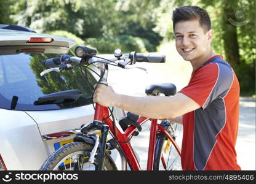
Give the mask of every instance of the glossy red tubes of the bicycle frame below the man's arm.
[[(95, 107), (95, 114), (94, 114), (94, 121), (103, 121), (104, 119), (108, 118), (108, 108), (103, 107), (100, 104), (96, 104)], [(148, 163), (147, 163), (147, 170), (152, 171), (153, 170), (153, 162), (154, 162), (154, 149), (155, 149), (155, 143), (156, 143), (156, 133), (157, 132), (162, 132), (164, 133), (174, 144), (174, 147), (177, 149), (178, 154), (181, 155), (181, 150), (176, 144), (175, 140), (170, 136), (170, 134), (164, 129), (162, 126), (158, 125), (158, 120), (156, 119), (150, 119), (150, 118), (145, 118), (145, 117), (140, 117), (137, 120), (137, 123), (139, 125), (143, 125), (146, 121), (150, 120), (151, 121), (151, 127), (150, 127), (150, 144), (149, 144), (149, 149), (148, 149)], [(104, 121), (106, 125), (110, 127), (110, 131), (112, 134), (114, 134), (114, 128), (113, 128), (113, 121), (108, 118)], [(124, 134), (119, 131), (119, 129), (116, 129), (116, 136), (118, 137), (119, 145), (121, 147), (122, 152), (124, 153), (124, 156), (127, 159), (127, 163), (130, 166), (130, 169), (134, 171), (140, 171), (141, 167), (140, 164), (138, 163), (138, 159), (134, 153), (134, 150), (132, 148), (132, 145), (130, 145), (129, 142), (129, 137), (132, 136), (132, 134), (135, 131), (134, 126), (129, 126), (129, 128), (126, 129)], [(124, 143), (127, 142), (127, 143)], [(162, 159), (163, 161), (163, 159)], [(165, 164), (165, 163), (163, 163)]]

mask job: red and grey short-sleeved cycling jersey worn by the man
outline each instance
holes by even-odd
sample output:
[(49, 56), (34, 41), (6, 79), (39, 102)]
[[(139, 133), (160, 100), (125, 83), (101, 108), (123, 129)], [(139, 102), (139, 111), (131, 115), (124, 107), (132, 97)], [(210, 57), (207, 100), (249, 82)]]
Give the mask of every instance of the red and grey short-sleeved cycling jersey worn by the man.
[(234, 149), (239, 82), (231, 66), (222, 56), (210, 58), (179, 93), (201, 105), (183, 115), (183, 170), (240, 170)]

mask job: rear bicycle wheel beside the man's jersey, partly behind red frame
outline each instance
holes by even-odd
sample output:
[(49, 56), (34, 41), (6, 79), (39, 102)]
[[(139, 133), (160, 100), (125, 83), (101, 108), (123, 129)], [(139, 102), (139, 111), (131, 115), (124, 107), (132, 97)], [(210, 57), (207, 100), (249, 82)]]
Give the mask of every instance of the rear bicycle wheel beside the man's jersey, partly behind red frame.
[[(170, 132), (170, 136), (174, 137), (175, 140), (175, 134), (181, 134), (181, 129), (182, 125), (174, 123), (169, 126), (167, 131)], [(167, 139), (163, 133), (158, 134), (156, 137), (154, 170), (182, 170), (181, 158), (178, 154), (178, 151), (176, 150), (170, 139)]]

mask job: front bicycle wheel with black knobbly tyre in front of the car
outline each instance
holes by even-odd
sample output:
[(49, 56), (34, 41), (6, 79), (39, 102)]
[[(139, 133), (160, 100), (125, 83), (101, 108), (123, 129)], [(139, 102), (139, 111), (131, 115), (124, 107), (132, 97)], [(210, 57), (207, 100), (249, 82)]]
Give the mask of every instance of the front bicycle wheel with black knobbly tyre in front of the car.
[[(89, 154), (94, 145), (85, 142), (71, 142), (52, 153), (39, 170), (43, 171), (87, 171), (97, 170), (97, 163), (89, 163)], [(117, 170), (106, 152), (105, 170)]]

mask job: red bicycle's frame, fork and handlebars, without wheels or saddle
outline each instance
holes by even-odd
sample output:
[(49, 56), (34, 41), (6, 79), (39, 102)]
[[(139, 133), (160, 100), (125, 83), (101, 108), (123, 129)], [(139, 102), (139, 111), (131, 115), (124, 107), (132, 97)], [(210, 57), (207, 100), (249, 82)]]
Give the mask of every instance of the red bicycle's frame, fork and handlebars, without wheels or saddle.
[[(118, 62), (118, 63), (114, 64), (114, 66), (119, 66), (122, 68), (130, 68), (130, 67), (126, 67), (126, 66), (128, 64), (135, 64), (135, 62), (136, 62), (136, 53), (135, 52), (132, 52), (129, 55), (126, 54), (122, 57), (119, 56), (119, 54), (120, 54), (119, 52), (115, 52), (115, 55), (114, 55), (115, 58), (104, 59), (104, 58), (94, 56), (95, 53), (91, 53), (92, 55), (89, 55), (88, 52), (90, 51), (90, 49), (87, 47), (79, 47), (79, 49), (80, 49), (80, 51), (82, 49), (84, 52), (83, 55), (81, 55), (80, 51), (77, 54), (82, 59), (79, 57), (70, 56), (68, 59), (65, 59), (65, 61), (62, 61), (62, 57), (57, 58), (57, 59), (60, 59), (61, 67), (47, 69), (46, 71), (41, 72), (40, 75), (42, 76), (51, 71), (61, 71), (63, 69), (68, 69), (71, 67), (71, 64), (68, 62), (76, 63), (76, 64), (79, 63), (79, 66), (81, 64), (85, 64), (85, 65), (86, 64), (94, 64), (95, 67), (100, 69), (100, 75), (98, 75), (100, 77), (100, 80), (98, 81), (97, 85), (98, 84), (108, 85), (108, 83), (107, 83), (108, 63), (122, 59), (122, 60), (124, 60), (124, 62), (122, 62), (122, 63)], [(93, 57), (95, 57), (96, 59), (92, 59)], [(151, 61), (151, 63), (162, 63), (165, 61), (165, 56), (141, 55), (140, 57), (142, 58), (142, 59), (140, 58), (140, 62)], [(51, 66), (52, 63), (54, 63), (53, 59), (49, 59), (47, 62), (48, 62), (49, 66)], [(140, 68), (140, 67), (138, 67), (138, 68)], [(97, 74), (97, 72), (95, 72), (95, 73)], [(146, 117), (138, 118), (137, 123), (138, 123), (138, 125), (143, 125), (143, 123), (145, 123), (146, 121), (151, 121), (147, 170), (149, 170), (149, 171), (153, 170), (154, 164), (155, 165), (158, 164), (158, 163), (154, 163), (155, 157), (156, 157), (157, 161), (159, 161), (159, 159), (161, 158), (162, 164), (166, 168), (166, 163), (164, 163), (163, 156), (161, 154), (157, 154), (156, 156), (154, 155), (155, 148), (156, 148), (156, 140), (159, 140), (156, 138), (158, 136), (157, 133), (158, 132), (162, 133), (159, 135), (159, 137), (162, 139), (161, 147), (162, 147), (162, 143), (163, 143), (164, 139), (166, 139), (166, 137), (167, 137), (172, 142), (172, 144), (178, 151), (179, 155), (181, 155), (181, 150), (180, 150), (180, 148), (178, 148), (178, 145), (175, 143), (175, 140), (172, 138), (172, 136), (170, 136), (169, 132), (167, 132), (167, 129), (169, 129), (170, 125), (164, 125), (165, 126), (165, 128), (164, 128), (164, 126), (158, 125), (158, 120), (146, 118)], [(137, 128), (135, 126), (129, 126), (129, 128), (127, 128), (126, 131), (121, 132), (118, 128), (114, 127), (113, 125), (114, 125), (113, 121), (109, 117), (108, 108), (103, 107), (102, 105), (96, 103), (95, 113), (94, 113), (94, 122), (92, 124), (88, 125), (88, 127), (87, 126), (81, 127), (81, 132), (85, 135), (87, 134), (89, 129), (91, 129), (91, 130), (100, 129), (100, 131), (102, 133), (102, 137), (100, 139), (100, 147), (98, 147), (98, 144), (95, 144), (94, 148), (92, 149), (92, 154), (90, 155), (89, 162), (94, 163), (94, 159), (95, 159), (94, 156), (96, 154), (97, 148), (99, 148), (100, 150), (97, 153), (97, 162), (98, 162), (97, 170), (102, 171), (105, 169), (104, 163), (105, 163), (105, 153), (106, 153), (105, 150), (106, 150), (106, 141), (107, 141), (106, 138), (108, 136), (108, 132), (110, 131), (111, 134), (116, 136), (116, 139), (118, 139), (119, 147), (121, 148), (122, 152), (124, 153), (124, 156), (126, 157), (126, 161), (129, 164), (130, 169), (132, 169), (134, 171), (141, 170), (140, 164), (138, 163), (137, 156), (135, 155), (132, 145), (129, 142), (131, 136), (135, 134), (135, 130)], [(166, 137), (164, 137), (163, 135)], [(82, 141), (83, 140), (84, 139), (82, 139)], [(95, 140), (97, 140), (97, 142), (98, 142), (98, 136), (95, 137)], [(159, 145), (159, 142), (158, 142), (158, 145)], [(157, 153), (160, 153), (160, 152), (157, 151)], [(158, 165), (156, 165), (155, 167), (158, 167)]]

